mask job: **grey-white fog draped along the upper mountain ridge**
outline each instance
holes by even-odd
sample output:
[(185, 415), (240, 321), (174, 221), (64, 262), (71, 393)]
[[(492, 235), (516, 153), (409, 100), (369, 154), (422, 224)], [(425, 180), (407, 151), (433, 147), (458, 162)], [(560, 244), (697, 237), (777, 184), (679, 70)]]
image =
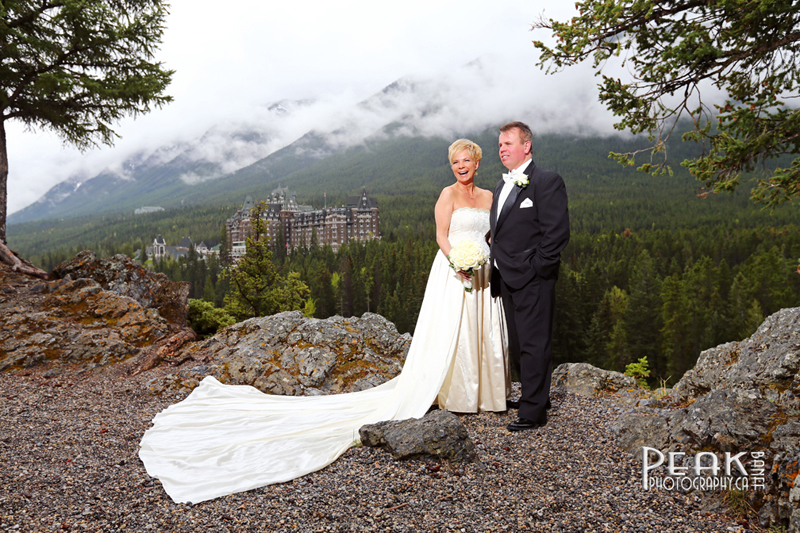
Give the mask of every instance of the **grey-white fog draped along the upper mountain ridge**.
[[(360, 101), (339, 94), (253, 106), (246, 115), (228, 117), (194, 136), (184, 131), (164, 141), (163, 134), (154, 132), (139, 146), (127, 142), (114, 150), (111, 161), (84, 159), (76, 162), (83, 168), (72, 172), (64, 165), (63, 181), (12, 214), (9, 223), (90, 214), (96, 202), (103, 211), (129, 209), (144, 190), (149, 195), (142, 202), (169, 203), (182, 187), (228, 179), (287, 147), (312, 161), (366, 138), (449, 140), (514, 119), (540, 133), (612, 134), (612, 118), (586, 83), (588, 74), (580, 67), (558, 78), (536, 69), (517, 72), (489, 57), (436, 76), (404, 77)], [(308, 142), (309, 135), (314, 142)], [(304, 136), (305, 142), (298, 143)], [(98, 168), (99, 163), (105, 165)], [(125, 203), (117, 205), (122, 198)]]

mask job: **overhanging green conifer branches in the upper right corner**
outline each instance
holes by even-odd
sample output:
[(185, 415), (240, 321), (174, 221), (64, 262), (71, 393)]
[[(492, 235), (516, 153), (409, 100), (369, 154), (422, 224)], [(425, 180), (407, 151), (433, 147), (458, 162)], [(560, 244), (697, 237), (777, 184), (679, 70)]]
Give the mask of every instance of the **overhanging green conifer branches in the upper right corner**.
[[(628, 79), (603, 75), (600, 101), (618, 129), (648, 132), (649, 148), (614, 154), (658, 171), (659, 152), (681, 117), (692, 130), (685, 139), (703, 151), (682, 164), (713, 191), (731, 191), (742, 173), (788, 154), (794, 158), (763, 173), (752, 194), (775, 205), (800, 195), (800, 109), (784, 100), (796, 96), (800, 50), (800, 4), (791, 0), (584, 0), (569, 22), (541, 20), (555, 46), (534, 41), (539, 65), (558, 72), (591, 57), (599, 75), (623, 57)], [(711, 105), (701, 88), (713, 85), (726, 101)], [(645, 156), (647, 158), (647, 155)], [(654, 164), (655, 163), (655, 164)]]

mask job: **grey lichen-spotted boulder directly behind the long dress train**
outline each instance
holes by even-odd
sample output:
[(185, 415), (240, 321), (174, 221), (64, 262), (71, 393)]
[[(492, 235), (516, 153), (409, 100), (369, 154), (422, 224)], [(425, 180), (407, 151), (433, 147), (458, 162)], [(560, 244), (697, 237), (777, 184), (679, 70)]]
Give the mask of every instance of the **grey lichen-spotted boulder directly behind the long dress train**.
[(299, 311), (251, 318), (202, 342), (178, 359), (195, 366), (155, 378), (150, 391), (188, 392), (205, 376), (286, 396), (368, 389), (400, 373), (411, 336), (380, 315), (306, 318)]

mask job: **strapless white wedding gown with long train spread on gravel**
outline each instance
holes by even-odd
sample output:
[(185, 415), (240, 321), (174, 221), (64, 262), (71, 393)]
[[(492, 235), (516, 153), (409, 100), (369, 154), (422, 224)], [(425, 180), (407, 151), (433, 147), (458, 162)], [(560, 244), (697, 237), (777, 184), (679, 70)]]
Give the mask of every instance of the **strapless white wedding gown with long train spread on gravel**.
[[(449, 240), (483, 243), (488, 211), (453, 212)], [(486, 278), (484, 275), (483, 278)], [(206, 377), (153, 419), (139, 457), (175, 502), (201, 502), (280, 483), (331, 464), (382, 420), (422, 417), (435, 402), (458, 412), (504, 411), (509, 392), (502, 307), (488, 284), (471, 293), (439, 251), (403, 371), (372, 389), (276, 396)]]

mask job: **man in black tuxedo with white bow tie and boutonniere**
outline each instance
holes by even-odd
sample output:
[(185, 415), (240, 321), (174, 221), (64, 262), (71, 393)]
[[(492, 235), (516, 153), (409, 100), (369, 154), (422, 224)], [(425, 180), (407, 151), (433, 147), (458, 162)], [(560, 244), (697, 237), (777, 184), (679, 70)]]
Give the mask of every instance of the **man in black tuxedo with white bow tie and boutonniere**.
[(503, 298), (509, 355), (522, 384), (509, 431), (547, 423), (555, 284), (569, 241), (564, 180), (536, 166), (532, 140), (522, 122), (500, 128), (500, 160), (509, 173), (494, 189), (490, 215), (492, 296)]

